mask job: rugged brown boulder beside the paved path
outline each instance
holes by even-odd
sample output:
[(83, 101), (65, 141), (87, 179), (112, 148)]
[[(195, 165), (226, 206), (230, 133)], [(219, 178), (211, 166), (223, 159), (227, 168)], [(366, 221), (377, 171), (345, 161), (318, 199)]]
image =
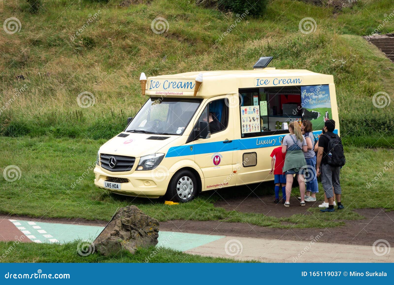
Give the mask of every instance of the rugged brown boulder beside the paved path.
[(119, 209), (93, 244), (102, 255), (115, 255), (121, 250), (134, 254), (137, 247), (156, 245), (158, 232), (159, 222), (132, 205)]

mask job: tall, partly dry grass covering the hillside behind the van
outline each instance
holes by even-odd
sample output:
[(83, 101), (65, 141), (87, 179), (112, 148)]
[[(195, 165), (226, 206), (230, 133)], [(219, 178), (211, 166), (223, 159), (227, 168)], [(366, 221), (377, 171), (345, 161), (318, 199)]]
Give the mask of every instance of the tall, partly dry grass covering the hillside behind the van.
[[(274, 57), (271, 66), (277, 68), (334, 75), (342, 136), (349, 141), (390, 136), (394, 104), (378, 109), (372, 97), (379, 91), (392, 96), (394, 65), (360, 35), (370, 34), (390, 15), (391, 0), (359, 0), (335, 15), (332, 8), (273, 0), (264, 17), (242, 20), (221, 41), (235, 15), (188, 0), (154, 0), (127, 8), (118, 8), (119, 2), (44, 0), (35, 15), (20, 1), (4, 4), (2, 19), (17, 17), (22, 28), (0, 37), (0, 135), (108, 139), (123, 130), (126, 118), (146, 100), (140, 95), (141, 72), (154, 76), (251, 69), (266, 55)], [(89, 14), (98, 17), (72, 41), (70, 35)], [(152, 32), (156, 17), (168, 21), (167, 32)], [(307, 35), (298, 28), (305, 17), (317, 25)], [(382, 33), (392, 31), (394, 19), (380, 28)], [(16, 80), (20, 74), (26, 80)], [(76, 98), (83, 91), (93, 93), (93, 106), (78, 106)]]

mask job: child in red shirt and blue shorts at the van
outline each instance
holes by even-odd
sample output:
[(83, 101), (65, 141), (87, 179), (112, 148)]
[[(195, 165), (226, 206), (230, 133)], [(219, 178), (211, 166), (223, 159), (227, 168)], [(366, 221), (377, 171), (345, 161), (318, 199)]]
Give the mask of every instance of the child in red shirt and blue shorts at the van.
[[(281, 140), (281, 146), (273, 149), (271, 153), (271, 171), (269, 174), (274, 174), (275, 183), (275, 201), (274, 203), (279, 203), (279, 187), (282, 184), (282, 204), (286, 201), (286, 175), (283, 174), (282, 168), (284, 164), (284, 157), (286, 153), (282, 153), (282, 142), (283, 137), (279, 138)], [(275, 170), (274, 170), (275, 162)]]

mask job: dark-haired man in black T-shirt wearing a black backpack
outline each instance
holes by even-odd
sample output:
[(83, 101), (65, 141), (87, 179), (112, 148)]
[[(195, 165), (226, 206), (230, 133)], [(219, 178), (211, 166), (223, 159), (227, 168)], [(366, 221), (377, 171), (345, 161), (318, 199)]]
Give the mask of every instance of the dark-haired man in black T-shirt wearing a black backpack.
[(342, 141), (337, 134), (334, 134), (335, 121), (327, 120), (324, 123), (325, 134), (319, 138), (318, 157), (316, 162), (316, 173), (322, 174), (322, 185), (328, 199), (328, 208), (322, 212), (334, 212), (333, 187), (338, 203), (338, 210), (344, 209), (341, 203), (342, 189), (339, 182), (339, 174), (342, 166), (345, 165), (345, 155)]

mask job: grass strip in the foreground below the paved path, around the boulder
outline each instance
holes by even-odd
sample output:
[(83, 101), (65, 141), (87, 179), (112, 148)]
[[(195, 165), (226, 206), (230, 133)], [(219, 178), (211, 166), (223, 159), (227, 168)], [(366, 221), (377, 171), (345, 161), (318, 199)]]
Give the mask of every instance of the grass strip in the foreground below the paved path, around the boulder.
[[(87, 256), (80, 256), (77, 251), (78, 240), (66, 244), (36, 244), (15, 242), (0, 242), (0, 252), (8, 253), (6, 257), (1, 257), (0, 262), (46, 262), (46, 263), (228, 263), (242, 262), (235, 259), (221, 257), (204, 257), (192, 255), (182, 251), (171, 250), (169, 248), (139, 248), (135, 254), (126, 251), (120, 252), (115, 256), (105, 257), (99, 253), (92, 253)], [(246, 261), (257, 262), (257, 261)]]

